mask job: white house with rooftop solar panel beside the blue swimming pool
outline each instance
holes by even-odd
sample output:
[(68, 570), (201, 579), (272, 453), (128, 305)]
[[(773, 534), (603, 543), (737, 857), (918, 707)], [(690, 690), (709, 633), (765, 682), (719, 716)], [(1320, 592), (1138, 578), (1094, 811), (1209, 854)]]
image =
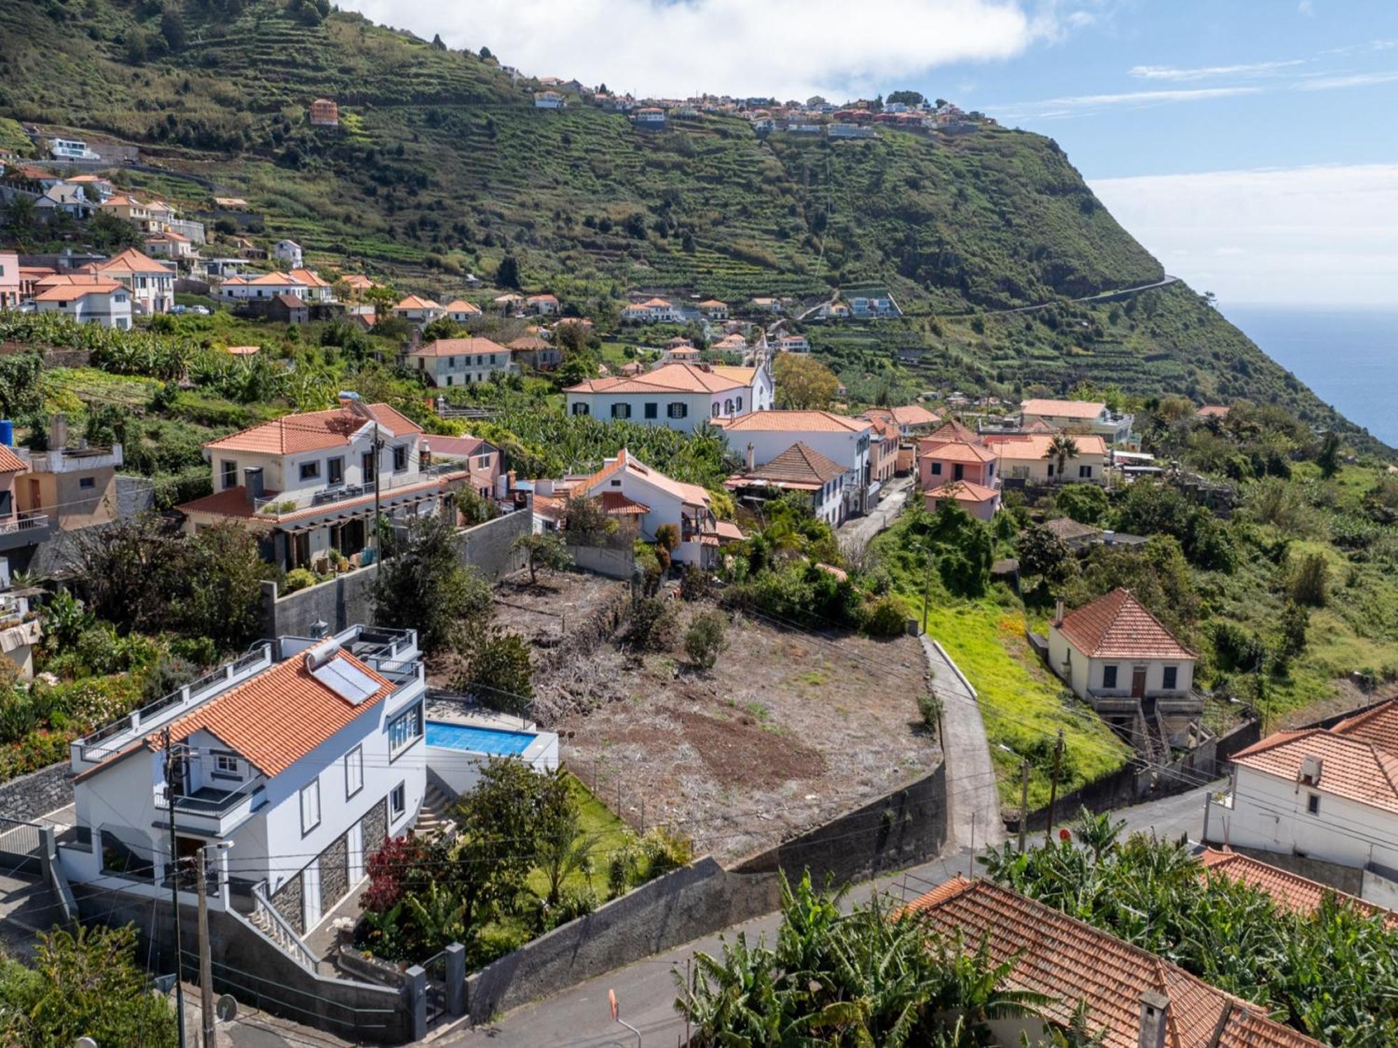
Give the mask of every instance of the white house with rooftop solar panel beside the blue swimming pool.
[[(73, 742), (74, 816), (89, 843), (62, 848), (63, 869), (71, 882), (168, 897), (173, 803), (176, 859), (233, 845), (217, 854), (224, 869), (211, 905), (231, 908), (231, 891), (246, 891), (256, 911), (270, 907), (303, 935), (422, 806), (417, 637), (361, 626), (319, 643), (284, 637), (200, 683)], [(166, 728), (179, 757), (173, 781)]]

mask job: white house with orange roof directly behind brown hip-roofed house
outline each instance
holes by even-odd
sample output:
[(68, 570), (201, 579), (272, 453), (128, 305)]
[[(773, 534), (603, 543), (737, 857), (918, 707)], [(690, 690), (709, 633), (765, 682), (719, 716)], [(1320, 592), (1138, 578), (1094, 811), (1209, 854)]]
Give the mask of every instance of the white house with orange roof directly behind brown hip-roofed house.
[(870, 509), (870, 444), (872, 426), (867, 419), (829, 411), (755, 411), (719, 425), (728, 450), (754, 467), (766, 465), (793, 444), (819, 451), (844, 470), (840, 521)]

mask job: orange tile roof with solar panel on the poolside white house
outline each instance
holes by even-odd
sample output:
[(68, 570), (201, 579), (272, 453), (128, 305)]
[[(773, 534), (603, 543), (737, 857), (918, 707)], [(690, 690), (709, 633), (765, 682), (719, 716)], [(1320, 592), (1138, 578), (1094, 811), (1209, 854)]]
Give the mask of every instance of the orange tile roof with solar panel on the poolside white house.
[[(393, 694), (390, 681), (348, 651), (337, 654), (334, 661), (354, 667), (377, 683), (379, 690), (362, 703), (351, 703), (306, 669), (305, 655), (296, 655), (175, 721), (171, 738), (187, 739), (203, 728), (264, 776), (277, 776)], [(157, 736), (145, 745), (155, 749)]]

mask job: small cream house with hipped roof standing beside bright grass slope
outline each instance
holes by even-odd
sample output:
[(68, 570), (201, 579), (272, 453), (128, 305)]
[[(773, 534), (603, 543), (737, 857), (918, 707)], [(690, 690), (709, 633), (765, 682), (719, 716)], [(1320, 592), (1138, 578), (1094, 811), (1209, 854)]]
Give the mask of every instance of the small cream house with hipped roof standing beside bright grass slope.
[(1104, 720), (1130, 728), (1158, 720), (1172, 745), (1204, 714), (1194, 692), (1198, 655), (1128, 590), (1116, 588), (1048, 623), (1048, 667)]

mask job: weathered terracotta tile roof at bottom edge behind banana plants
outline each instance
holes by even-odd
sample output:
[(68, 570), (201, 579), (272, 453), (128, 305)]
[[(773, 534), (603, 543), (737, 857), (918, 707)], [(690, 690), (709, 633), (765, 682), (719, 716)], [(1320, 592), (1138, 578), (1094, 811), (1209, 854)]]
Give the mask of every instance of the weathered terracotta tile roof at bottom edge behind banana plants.
[(1088, 1021), (1106, 1030), (1109, 1048), (1137, 1048), (1141, 995), (1170, 1000), (1169, 1048), (1247, 1045), (1318, 1048), (1320, 1042), (1267, 1017), (1265, 1009), (1216, 989), (1183, 968), (1092, 928), (1043, 903), (988, 880), (956, 876), (907, 905), (944, 936), (962, 936), (967, 950), (984, 936), (995, 963), (1011, 963), (1007, 982), (1044, 994), (1046, 1016), (1067, 1024), (1078, 1002)]

